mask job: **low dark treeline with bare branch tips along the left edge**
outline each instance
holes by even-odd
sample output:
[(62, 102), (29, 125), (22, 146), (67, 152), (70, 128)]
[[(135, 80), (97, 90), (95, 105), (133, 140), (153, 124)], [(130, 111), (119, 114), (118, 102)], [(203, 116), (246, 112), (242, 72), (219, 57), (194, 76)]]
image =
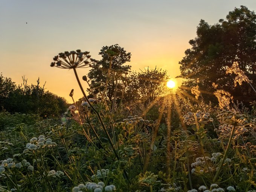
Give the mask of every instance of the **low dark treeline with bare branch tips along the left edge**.
[(68, 107), (64, 98), (46, 91), (37, 84), (27, 85), (23, 76), (23, 84), (16, 85), (11, 78), (0, 73), (0, 111), (10, 113), (38, 114), (40, 117), (58, 117)]

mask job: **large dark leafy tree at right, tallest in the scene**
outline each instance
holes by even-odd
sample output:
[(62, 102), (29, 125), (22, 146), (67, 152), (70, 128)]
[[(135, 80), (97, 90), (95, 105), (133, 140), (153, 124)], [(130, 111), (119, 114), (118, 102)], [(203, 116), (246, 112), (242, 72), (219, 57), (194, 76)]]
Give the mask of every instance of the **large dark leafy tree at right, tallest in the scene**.
[(179, 62), (181, 75), (187, 79), (184, 85), (193, 86), (197, 79), (199, 87), (213, 91), (212, 83), (218, 83), (230, 91), (236, 99), (243, 94), (253, 94), (249, 85), (235, 87), (234, 76), (226, 75), (228, 67), (238, 61), (245, 75), (256, 85), (256, 14), (241, 6), (230, 11), (226, 21), (209, 25), (201, 20), (197, 37), (189, 41), (192, 48), (185, 51)]

